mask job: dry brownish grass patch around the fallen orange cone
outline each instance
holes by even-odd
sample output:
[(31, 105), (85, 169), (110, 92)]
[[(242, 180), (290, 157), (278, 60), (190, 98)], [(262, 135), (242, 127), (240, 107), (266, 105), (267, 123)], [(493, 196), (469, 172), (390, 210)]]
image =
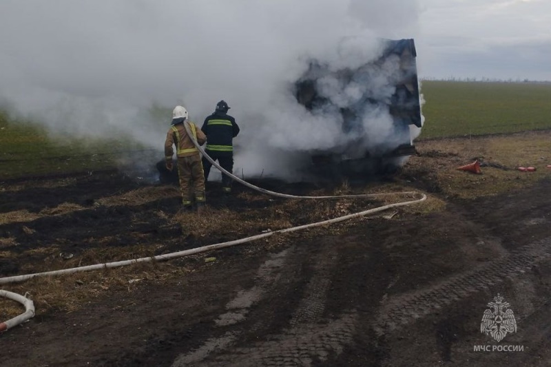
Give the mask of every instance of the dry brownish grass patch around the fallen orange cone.
[[(433, 182), (451, 198), (494, 196), (533, 185), (550, 178), (551, 132), (525, 132), (505, 136), (425, 140), (417, 144), (419, 156), (404, 167), (406, 174)], [(482, 174), (459, 171), (457, 167), (482, 162)], [(535, 167), (521, 172), (517, 167)]]

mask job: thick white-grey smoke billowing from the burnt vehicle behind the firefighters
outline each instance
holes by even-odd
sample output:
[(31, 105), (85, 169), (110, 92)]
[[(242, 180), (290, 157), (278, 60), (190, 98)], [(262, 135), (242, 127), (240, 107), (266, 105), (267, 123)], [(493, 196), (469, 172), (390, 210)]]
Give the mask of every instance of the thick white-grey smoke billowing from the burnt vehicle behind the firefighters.
[[(414, 38), (417, 14), (411, 0), (3, 0), (0, 103), (54, 134), (129, 134), (156, 160), (171, 116), (152, 105), (183, 104), (201, 125), (225, 99), (242, 129), (236, 171), (287, 176), (302, 151), (349, 141), (338, 114), (306, 111), (289, 89), (309, 60), (358, 67), (377, 38)], [(330, 77), (320, 88), (337, 105), (387, 96), (386, 66), (344, 93)], [(391, 135), (388, 118), (366, 112), (369, 136)]]

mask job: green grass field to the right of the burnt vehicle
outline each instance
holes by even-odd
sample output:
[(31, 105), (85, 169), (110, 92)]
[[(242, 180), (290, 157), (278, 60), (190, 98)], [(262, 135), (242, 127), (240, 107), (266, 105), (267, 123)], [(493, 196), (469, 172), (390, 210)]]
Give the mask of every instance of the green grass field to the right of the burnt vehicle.
[(423, 138), (551, 129), (551, 83), (424, 81)]

